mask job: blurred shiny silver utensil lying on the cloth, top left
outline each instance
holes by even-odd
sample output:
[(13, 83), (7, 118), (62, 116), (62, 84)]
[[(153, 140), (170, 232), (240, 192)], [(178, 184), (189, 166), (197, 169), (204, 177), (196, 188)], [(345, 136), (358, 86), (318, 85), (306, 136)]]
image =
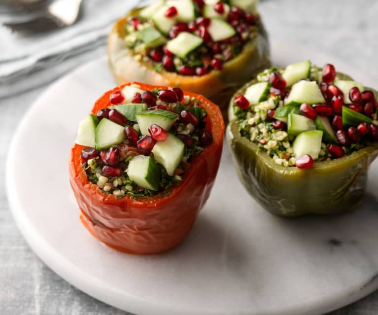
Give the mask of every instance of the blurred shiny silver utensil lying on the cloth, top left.
[(14, 32), (36, 34), (72, 25), (80, 13), (82, 0), (55, 0), (40, 15), (19, 22), (5, 22)]

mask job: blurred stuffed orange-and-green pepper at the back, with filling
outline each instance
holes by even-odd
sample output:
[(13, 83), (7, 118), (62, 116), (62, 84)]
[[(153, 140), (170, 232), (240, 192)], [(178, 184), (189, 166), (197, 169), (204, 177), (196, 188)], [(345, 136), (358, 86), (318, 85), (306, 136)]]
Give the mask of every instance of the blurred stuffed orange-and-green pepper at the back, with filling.
[(257, 0), (205, 2), (157, 0), (118, 20), (107, 44), (116, 81), (178, 86), (226, 108), (270, 67), (268, 36)]

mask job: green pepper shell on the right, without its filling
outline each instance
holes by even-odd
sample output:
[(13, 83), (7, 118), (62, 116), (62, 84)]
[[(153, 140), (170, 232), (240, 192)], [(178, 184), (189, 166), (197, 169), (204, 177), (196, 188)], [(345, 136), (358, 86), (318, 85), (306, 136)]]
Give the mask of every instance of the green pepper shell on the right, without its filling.
[[(243, 94), (246, 86), (236, 95)], [(230, 114), (232, 106), (231, 101)], [(233, 115), (226, 138), (237, 174), (248, 193), (265, 210), (287, 217), (356, 209), (365, 193), (369, 165), (378, 155), (378, 143), (374, 143), (339, 159), (315, 161), (310, 170), (283, 167), (259, 150), (256, 143), (241, 137)]]

